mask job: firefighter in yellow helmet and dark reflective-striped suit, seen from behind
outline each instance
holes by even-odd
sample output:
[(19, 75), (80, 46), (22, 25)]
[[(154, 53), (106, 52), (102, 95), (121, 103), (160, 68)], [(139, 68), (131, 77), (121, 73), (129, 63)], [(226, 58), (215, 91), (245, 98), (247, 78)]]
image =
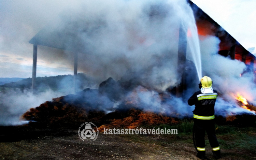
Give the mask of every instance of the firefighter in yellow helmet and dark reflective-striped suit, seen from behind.
[(197, 148), (197, 157), (205, 159), (205, 131), (208, 135), (212, 147), (213, 156), (216, 159), (221, 158), (221, 150), (215, 135), (214, 125), (214, 105), (218, 93), (212, 89), (212, 79), (202, 77), (199, 83), (200, 91), (197, 91), (188, 99), (188, 105), (195, 105), (194, 113), (194, 130)]

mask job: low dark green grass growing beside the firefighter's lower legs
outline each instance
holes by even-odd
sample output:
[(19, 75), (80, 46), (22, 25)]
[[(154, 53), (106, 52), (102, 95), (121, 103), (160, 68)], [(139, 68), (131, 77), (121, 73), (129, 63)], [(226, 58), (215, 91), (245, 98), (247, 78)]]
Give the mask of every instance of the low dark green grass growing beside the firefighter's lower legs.
[[(160, 128), (160, 129), (177, 129), (177, 135), (161, 135), (169, 137), (171, 141), (179, 141), (180, 143), (191, 144), (193, 132), (193, 120), (182, 120), (177, 125), (160, 124), (158, 126), (143, 126), (143, 128)], [(246, 150), (254, 154), (256, 152), (256, 128), (245, 127), (239, 128), (235, 126), (219, 126), (215, 125), (217, 139), (222, 149), (230, 150)], [(210, 146), (205, 134), (205, 143)]]

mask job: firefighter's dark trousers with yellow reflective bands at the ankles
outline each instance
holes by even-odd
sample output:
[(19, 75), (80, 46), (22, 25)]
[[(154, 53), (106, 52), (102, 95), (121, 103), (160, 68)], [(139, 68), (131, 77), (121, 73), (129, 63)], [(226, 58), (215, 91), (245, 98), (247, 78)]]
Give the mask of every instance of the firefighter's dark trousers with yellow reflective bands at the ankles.
[(202, 120), (202, 119), (194, 118), (194, 128), (195, 128), (195, 140), (196, 140), (198, 153), (200, 155), (205, 155), (204, 136), (206, 131), (213, 153), (216, 152), (217, 154), (219, 154), (220, 149), (219, 149), (219, 143), (218, 143), (217, 137), (215, 135), (214, 119)]

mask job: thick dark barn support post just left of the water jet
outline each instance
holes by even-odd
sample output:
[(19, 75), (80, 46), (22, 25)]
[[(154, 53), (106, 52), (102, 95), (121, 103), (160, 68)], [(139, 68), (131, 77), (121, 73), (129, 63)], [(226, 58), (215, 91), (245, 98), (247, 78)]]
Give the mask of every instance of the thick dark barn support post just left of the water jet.
[(179, 31), (179, 50), (178, 50), (178, 73), (181, 76), (181, 83), (176, 88), (176, 96), (183, 97), (183, 91), (186, 89), (185, 63), (187, 55), (187, 29), (180, 24)]

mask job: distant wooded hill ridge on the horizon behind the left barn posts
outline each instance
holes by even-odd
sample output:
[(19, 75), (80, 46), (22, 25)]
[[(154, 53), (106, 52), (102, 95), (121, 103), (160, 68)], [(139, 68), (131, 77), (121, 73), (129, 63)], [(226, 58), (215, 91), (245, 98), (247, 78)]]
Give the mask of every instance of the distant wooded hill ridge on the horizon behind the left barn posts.
[[(45, 90), (45, 89), (52, 89), (52, 90), (61, 90), (73, 87), (73, 78), (72, 75), (57, 75), (51, 77), (37, 77), (35, 80), (35, 89), (37, 90)], [(29, 89), (31, 88), (32, 79), (26, 78), (22, 79), (18, 82), (10, 82), (0, 85), (3, 88), (22, 88), (22, 89)], [(91, 87), (96, 84), (96, 80), (92, 77), (86, 76), (83, 73), (77, 74), (77, 88), (84, 89), (84, 87)]]

